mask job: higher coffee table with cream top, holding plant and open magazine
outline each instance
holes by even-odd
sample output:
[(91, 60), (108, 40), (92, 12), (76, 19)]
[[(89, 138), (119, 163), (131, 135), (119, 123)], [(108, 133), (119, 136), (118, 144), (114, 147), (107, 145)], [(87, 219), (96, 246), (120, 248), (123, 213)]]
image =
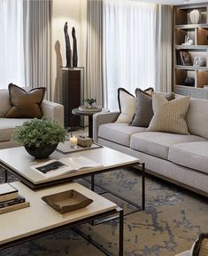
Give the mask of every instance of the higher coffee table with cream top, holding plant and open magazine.
[[(79, 172), (67, 174), (65, 176), (58, 176), (53, 178), (43, 177), (41, 173), (35, 172), (30, 168), (32, 165), (41, 164), (50, 159), (60, 159), (66, 156), (84, 156), (96, 163), (102, 164), (102, 167), (91, 170), (85, 169)], [(29, 156), (24, 147), (6, 148), (0, 150), (0, 166), (6, 171), (12, 172), (25, 183), (29, 188), (45, 188), (58, 183), (63, 183), (70, 180), (91, 176), (91, 189), (94, 190), (94, 176), (98, 173), (111, 172), (113, 170), (129, 167), (142, 166), (142, 209), (145, 207), (145, 165), (138, 158), (128, 156), (127, 154), (113, 150), (112, 148), (96, 148), (93, 150), (83, 150), (69, 154), (61, 154), (55, 151), (50, 158), (45, 160), (36, 160), (33, 156)], [(5, 177), (5, 181), (7, 176)], [(139, 186), (138, 186), (139, 187)], [(127, 201), (127, 200), (126, 200)], [(133, 204), (130, 201), (129, 204)], [(135, 204), (133, 204), (135, 205)], [(138, 205), (135, 205), (136, 207)]]

